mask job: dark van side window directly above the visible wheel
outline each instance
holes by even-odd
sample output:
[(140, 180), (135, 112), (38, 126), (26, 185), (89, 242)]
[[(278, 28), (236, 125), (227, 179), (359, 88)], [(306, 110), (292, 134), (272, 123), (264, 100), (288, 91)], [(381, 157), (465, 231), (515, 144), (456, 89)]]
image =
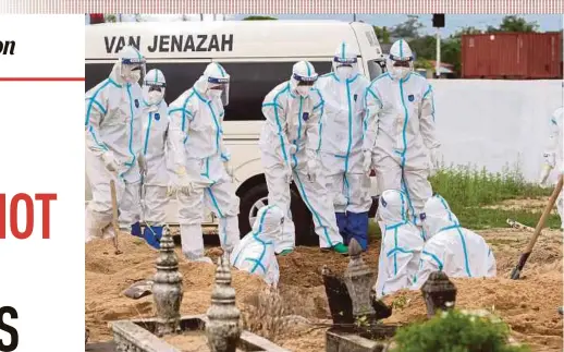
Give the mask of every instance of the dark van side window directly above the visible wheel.
[[(231, 76), (225, 121), (260, 121), (262, 101), (277, 85), (290, 80), (292, 62), (221, 62)], [(331, 61), (310, 61), (319, 75), (331, 71)]]

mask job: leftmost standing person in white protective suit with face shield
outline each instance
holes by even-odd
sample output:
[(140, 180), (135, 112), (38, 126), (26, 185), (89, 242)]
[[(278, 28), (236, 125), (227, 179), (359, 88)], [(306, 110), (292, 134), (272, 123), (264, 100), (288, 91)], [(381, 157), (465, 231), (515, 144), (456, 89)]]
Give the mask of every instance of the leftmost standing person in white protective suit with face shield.
[(124, 47), (108, 78), (86, 92), (86, 177), (93, 199), (86, 207), (86, 242), (114, 235), (110, 226), (110, 180), (115, 183), (119, 223), (140, 236), (143, 95), (145, 58)]

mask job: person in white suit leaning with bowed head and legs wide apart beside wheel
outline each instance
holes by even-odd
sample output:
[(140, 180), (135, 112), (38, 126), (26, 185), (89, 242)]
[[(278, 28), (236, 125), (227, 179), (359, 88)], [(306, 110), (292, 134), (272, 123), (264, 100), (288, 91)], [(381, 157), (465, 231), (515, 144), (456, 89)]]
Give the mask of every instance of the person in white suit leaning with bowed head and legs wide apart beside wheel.
[(275, 252), (286, 255), (295, 247), (295, 228), (290, 210), (290, 183), (296, 183), (302, 199), (311, 211), (322, 250), (346, 254), (339, 233), (332, 199), (320, 175), (319, 131), (323, 98), (312, 88), (317, 80), (307, 61), (294, 64), (290, 81), (279, 84), (265, 98), (259, 147), (268, 187), (268, 204), (285, 214), (282, 238)]

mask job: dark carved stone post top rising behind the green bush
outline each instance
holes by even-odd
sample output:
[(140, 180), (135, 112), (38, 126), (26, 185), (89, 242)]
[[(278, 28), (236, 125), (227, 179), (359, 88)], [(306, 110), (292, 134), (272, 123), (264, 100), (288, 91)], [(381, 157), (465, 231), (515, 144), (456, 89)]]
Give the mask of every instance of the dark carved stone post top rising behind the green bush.
[(456, 302), (456, 287), (443, 271), (431, 272), (421, 287), (421, 293), (429, 318), (432, 318), (438, 309), (453, 308)]

